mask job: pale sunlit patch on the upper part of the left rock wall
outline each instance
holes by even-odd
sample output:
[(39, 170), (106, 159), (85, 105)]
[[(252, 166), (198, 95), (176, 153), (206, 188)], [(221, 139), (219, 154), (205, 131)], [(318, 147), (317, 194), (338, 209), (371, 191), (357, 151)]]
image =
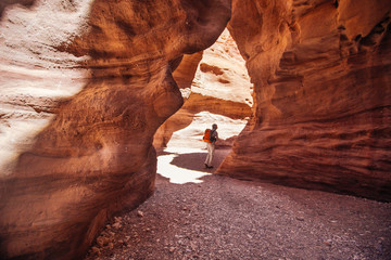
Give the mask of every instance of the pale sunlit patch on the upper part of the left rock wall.
[(88, 56), (56, 47), (87, 30), (91, 4), (78, 1), (72, 12), (64, 12), (61, 0), (37, 1), (34, 8), (10, 5), (4, 12), (0, 21), (1, 177), (12, 173), (20, 154), (51, 122), (58, 103), (79, 92), (90, 76), (87, 69), (75, 69)]

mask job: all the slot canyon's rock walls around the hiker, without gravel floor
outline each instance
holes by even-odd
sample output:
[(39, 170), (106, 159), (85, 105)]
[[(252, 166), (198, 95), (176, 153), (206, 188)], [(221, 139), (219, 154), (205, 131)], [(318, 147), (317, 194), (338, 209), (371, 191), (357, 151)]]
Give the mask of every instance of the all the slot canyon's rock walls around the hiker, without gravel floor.
[(2, 1), (0, 259), (84, 259), (108, 221), (151, 199), (164, 148), (203, 147), (216, 121), (227, 156), (215, 178), (391, 212), (390, 11), (389, 0)]

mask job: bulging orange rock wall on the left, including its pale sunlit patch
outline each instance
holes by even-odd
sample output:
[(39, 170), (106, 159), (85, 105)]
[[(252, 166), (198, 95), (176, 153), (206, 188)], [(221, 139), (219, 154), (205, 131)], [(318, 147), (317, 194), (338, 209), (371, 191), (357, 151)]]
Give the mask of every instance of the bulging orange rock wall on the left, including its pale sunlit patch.
[(182, 104), (172, 72), (213, 44), (230, 1), (0, 6), (0, 255), (77, 259), (153, 192), (152, 138)]

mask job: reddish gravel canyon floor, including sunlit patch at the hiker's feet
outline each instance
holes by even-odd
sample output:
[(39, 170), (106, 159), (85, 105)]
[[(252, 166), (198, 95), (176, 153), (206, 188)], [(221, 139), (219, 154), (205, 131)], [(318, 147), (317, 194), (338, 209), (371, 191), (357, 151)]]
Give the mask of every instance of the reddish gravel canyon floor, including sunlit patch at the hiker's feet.
[(205, 153), (160, 152), (154, 195), (85, 259), (391, 259), (391, 204), (211, 174)]

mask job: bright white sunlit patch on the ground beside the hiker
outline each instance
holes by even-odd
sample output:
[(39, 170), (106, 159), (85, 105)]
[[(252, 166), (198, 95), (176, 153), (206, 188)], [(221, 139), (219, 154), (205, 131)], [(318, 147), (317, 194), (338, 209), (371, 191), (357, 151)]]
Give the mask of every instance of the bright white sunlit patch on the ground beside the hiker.
[[(185, 183), (202, 183), (203, 181), (200, 180), (200, 178), (210, 176), (211, 173), (201, 171), (200, 170), (190, 170), (186, 169), (179, 166), (176, 166), (173, 164), (175, 158), (178, 158), (180, 155), (191, 155), (191, 154), (205, 154), (206, 151), (204, 150), (190, 150), (190, 148), (167, 148), (164, 150), (165, 153), (168, 153), (168, 155), (163, 154), (157, 157), (157, 174), (161, 174), (162, 177), (165, 177), (169, 179), (171, 183), (175, 184), (185, 184)], [(179, 154), (180, 153), (180, 154)], [(191, 157), (188, 157), (191, 159)], [(199, 164), (200, 166), (203, 164), (203, 160), (200, 161), (192, 161), (193, 164)]]

